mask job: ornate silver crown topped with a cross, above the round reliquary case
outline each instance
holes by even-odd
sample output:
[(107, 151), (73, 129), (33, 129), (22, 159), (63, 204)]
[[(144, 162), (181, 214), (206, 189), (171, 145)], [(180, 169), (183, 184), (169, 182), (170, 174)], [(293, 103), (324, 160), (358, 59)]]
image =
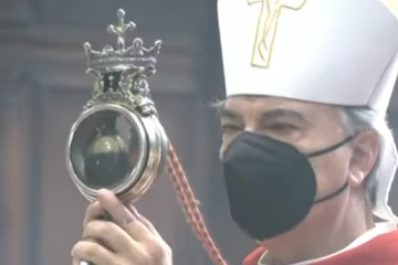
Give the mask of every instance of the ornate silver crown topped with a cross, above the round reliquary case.
[(161, 41), (149, 47), (144, 46), (140, 38), (135, 38), (132, 45), (127, 44), (126, 35), (136, 28), (134, 22), (125, 23), (125, 11), (117, 11), (118, 24), (111, 24), (107, 32), (117, 36), (117, 49), (105, 45), (102, 51), (95, 51), (84, 43), (87, 60), (87, 73), (96, 76), (93, 99), (85, 108), (103, 100), (117, 100), (134, 107), (142, 107), (147, 114), (156, 113), (149, 100), (147, 77), (156, 73), (157, 55)]

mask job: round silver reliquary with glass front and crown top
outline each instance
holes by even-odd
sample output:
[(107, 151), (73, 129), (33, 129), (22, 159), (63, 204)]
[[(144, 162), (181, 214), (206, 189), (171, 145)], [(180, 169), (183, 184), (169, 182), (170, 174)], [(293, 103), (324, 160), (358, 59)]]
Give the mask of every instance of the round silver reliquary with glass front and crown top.
[(88, 73), (95, 75), (92, 98), (67, 137), (67, 171), (82, 194), (94, 200), (98, 189), (113, 190), (121, 199), (138, 200), (163, 172), (168, 139), (150, 98), (148, 77), (155, 74), (160, 41), (145, 47), (142, 39), (129, 44), (135, 29), (117, 11), (116, 49), (102, 51), (84, 44)]

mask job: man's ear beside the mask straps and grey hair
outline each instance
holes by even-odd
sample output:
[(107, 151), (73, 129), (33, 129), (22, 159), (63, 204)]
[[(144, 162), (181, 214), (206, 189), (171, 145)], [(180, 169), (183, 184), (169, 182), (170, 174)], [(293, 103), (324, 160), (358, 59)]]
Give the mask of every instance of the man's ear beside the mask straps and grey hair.
[(376, 163), (380, 150), (379, 135), (376, 130), (363, 131), (353, 140), (352, 147), (348, 184), (358, 187), (363, 184)]

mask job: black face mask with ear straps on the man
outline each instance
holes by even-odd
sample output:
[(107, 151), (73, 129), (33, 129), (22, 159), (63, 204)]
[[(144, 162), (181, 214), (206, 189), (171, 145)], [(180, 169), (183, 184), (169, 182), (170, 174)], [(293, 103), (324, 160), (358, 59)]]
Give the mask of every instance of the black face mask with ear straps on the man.
[(233, 221), (254, 240), (266, 240), (292, 230), (313, 204), (343, 192), (348, 183), (315, 200), (316, 178), (308, 158), (331, 152), (354, 137), (329, 148), (304, 155), (294, 146), (266, 136), (242, 132), (223, 159), (224, 181)]

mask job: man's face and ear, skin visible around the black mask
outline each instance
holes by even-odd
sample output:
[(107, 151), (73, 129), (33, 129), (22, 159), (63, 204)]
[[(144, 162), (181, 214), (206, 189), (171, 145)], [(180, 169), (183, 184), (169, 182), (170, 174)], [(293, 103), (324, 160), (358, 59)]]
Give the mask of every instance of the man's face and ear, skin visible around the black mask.
[[(242, 131), (262, 134), (311, 153), (334, 146), (348, 136), (336, 106), (264, 96), (234, 96), (220, 109), (221, 157)], [(349, 191), (313, 208), (307, 220), (336, 219), (370, 171), (378, 151), (377, 135), (360, 134), (352, 142), (326, 155), (311, 158), (316, 174), (316, 199), (338, 190), (348, 181)], [(291, 176), (294, 178), (294, 176)], [(244, 178), (244, 176), (242, 176)], [(283, 192), (283, 191), (281, 191)], [(259, 202), (261, 204), (261, 202)], [(304, 222), (307, 222), (304, 221)]]

